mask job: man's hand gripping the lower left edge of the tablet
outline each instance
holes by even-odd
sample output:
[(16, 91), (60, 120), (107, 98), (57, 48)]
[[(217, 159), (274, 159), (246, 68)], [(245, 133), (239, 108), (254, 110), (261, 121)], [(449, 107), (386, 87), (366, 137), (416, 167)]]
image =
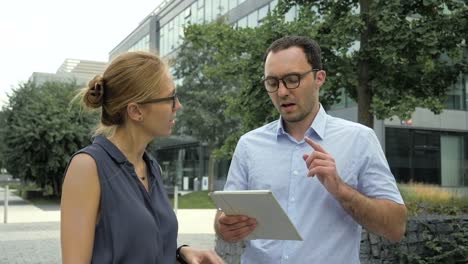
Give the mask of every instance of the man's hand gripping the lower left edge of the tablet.
[(225, 215), (218, 212), (215, 219), (216, 233), (227, 242), (237, 242), (248, 236), (257, 226), (255, 218), (245, 215)]

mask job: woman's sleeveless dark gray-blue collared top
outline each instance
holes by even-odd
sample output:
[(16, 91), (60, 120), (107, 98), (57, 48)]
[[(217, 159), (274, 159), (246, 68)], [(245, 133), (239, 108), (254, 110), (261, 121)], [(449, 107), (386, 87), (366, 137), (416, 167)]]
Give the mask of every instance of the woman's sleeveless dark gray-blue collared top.
[(149, 191), (133, 165), (107, 138), (78, 151), (94, 158), (101, 186), (92, 263), (175, 263), (177, 218), (158, 163), (148, 154)]

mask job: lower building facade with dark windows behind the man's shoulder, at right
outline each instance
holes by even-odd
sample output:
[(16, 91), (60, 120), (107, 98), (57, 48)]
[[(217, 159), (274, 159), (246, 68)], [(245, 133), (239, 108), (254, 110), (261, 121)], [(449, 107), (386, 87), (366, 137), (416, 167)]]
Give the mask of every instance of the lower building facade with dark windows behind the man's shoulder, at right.
[[(328, 112), (357, 121), (356, 103), (341, 99)], [(375, 120), (374, 130), (399, 182), (468, 193), (468, 74), (451, 87), (441, 114), (417, 108), (409, 120)]]

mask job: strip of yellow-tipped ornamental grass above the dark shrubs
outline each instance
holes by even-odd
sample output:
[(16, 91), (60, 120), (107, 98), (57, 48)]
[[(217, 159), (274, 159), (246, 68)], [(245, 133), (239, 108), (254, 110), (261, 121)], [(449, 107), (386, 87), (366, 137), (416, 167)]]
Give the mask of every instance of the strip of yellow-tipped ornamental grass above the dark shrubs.
[(437, 185), (400, 184), (400, 192), (409, 215), (468, 214), (468, 196), (457, 196)]

